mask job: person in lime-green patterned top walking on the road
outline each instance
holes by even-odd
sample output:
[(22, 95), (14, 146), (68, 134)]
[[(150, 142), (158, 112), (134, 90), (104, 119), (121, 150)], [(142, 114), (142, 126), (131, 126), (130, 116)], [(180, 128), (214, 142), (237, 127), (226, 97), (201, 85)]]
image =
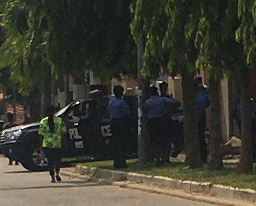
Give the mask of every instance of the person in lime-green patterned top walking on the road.
[[(53, 106), (47, 109), (47, 117), (40, 121), (38, 134), (40, 135), (40, 146), (47, 155), (51, 183), (62, 181), (60, 178), (60, 162), (62, 159), (62, 146), (66, 126), (60, 117), (55, 117)], [(56, 176), (55, 176), (56, 172)]]

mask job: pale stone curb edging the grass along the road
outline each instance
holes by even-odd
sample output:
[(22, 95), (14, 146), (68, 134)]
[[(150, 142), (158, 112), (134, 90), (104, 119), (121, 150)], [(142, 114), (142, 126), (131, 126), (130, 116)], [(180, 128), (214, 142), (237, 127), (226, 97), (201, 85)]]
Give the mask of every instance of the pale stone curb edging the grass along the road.
[[(72, 177), (74, 174), (67, 172), (67, 175), (71, 175), (70, 177)], [(94, 177), (98, 180), (100, 179), (101, 182), (112, 183), (114, 186), (119, 186), (120, 188), (142, 190), (144, 192), (154, 192), (157, 194), (167, 194), (192, 201), (217, 205), (245, 206), (246, 203), (239, 203), (239, 201), (247, 201), (248, 203), (254, 204), (256, 202), (255, 190), (214, 185), (210, 182), (181, 181), (169, 177), (88, 168), (88, 166), (81, 165), (77, 165), (75, 167), (75, 175), (84, 176), (86, 178)], [(157, 188), (154, 186), (157, 186)], [(173, 191), (168, 189), (172, 189)], [(229, 198), (229, 200), (225, 199), (218, 201), (217, 198)]]

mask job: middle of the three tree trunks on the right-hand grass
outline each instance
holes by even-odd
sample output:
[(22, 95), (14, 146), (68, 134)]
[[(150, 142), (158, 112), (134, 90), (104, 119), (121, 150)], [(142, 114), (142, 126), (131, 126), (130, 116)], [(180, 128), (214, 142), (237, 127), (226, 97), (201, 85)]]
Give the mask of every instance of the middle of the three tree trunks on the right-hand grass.
[(209, 92), (211, 96), (211, 115), (210, 115), (210, 136), (209, 136), (209, 168), (220, 170), (223, 168), (220, 113), (220, 80), (211, 77), (209, 80)]

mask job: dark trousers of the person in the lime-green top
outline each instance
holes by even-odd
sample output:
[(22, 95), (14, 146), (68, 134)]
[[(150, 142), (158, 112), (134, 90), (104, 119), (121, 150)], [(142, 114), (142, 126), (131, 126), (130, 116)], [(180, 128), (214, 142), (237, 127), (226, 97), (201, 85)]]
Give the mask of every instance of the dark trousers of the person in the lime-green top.
[(51, 176), (55, 175), (56, 173), (60, 172), (60, 164), (62, 160), (62, 150), (61, 149), (52, 149), (52, 148), (43, 148), (44, 153), (47, 155), (48, 159), (48, 167), (49, 173)]

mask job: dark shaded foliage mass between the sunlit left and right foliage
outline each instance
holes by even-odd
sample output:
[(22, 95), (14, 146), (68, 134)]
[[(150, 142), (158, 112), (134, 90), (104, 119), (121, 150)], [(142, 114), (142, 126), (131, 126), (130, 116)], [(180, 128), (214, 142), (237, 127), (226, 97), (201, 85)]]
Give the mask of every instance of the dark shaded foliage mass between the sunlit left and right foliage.
[(101, 78), (135, 74), (131, 1), (46, 1), (48, 56), (57, 74), (87, 67)]

